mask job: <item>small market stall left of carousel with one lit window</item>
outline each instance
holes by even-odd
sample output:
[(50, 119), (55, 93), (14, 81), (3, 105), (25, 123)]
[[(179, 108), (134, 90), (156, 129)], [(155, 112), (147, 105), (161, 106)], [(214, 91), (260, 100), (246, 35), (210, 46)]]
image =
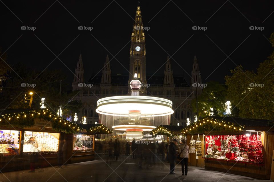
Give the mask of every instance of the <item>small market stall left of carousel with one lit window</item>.
[(98, 134), (111, 134), (103, 124), (80, 124), (82, 132), (73, 135), (73, 150), (70, 163), (94, 160), (95, 138)]

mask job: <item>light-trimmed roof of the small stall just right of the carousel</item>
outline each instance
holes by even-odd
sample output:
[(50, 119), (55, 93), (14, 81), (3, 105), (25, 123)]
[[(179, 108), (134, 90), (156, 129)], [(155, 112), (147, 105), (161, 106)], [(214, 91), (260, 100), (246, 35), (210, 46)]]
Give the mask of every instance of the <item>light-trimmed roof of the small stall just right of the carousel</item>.
[(154, 128), (150, 134), (156, 135), (166, 135), (166, 136), (178, 136), (181, 135), (181, 130), (185, 128), (184, 126), (175, 125), (160, 125)]

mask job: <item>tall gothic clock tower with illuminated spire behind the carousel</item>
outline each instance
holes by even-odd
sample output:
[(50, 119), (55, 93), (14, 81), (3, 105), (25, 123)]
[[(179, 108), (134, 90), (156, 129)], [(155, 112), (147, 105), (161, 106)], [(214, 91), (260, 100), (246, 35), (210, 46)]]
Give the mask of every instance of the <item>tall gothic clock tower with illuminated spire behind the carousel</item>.
[[(139, 5), (137, 7), (133, 30), (131, 33), (129, 68), (130, 75), (128, 83), (133, 79), (135, 73), (137, 73), (137, 77), (141, 83), (146, 83), (145, 32)], [(144, 90), (142, 90), (142, 92), (144, 93)]]

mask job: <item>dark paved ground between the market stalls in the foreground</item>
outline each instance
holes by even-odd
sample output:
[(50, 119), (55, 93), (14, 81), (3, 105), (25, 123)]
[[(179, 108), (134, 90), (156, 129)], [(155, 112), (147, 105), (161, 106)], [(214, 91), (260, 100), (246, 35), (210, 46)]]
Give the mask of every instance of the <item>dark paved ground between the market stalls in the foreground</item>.
[[(101, 158), (102, 157), (102, 158)], [(0, 181), (94, 181), (94, 182), (170, 182), (170, 181), (202, 181), (202, 182), (225, 182), (225, 181), (263, 181), (272, 182), (271, 180), (259, 180), (245, 176), (231, 175), (210, 171), (199, 167), (189, 166), (188, 175), (182, 176), (181, 166), (175, 168), (176, 175), (169, 174), (169, 164), (158, 161), (155, 165), (141, 167), (135, 164), (132, 157), (126, 158), (121, 156), (119, 161), (107, 160), (106, 156), (97, 156), (95, 161), (76, 163), (67, 165), (61, 169), (54, 167), (44, 168), (43, 171), (36, 169), (35, 173), (28, 173), (27, 170), (0, 173)], [(104, 159), (104, 160), (103, 160)]]

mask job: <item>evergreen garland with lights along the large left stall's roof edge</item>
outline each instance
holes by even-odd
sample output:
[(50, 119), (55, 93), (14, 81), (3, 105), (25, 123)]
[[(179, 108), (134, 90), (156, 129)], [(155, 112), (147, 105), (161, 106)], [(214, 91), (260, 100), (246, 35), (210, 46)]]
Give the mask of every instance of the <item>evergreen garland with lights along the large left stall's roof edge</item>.
[(0, 115), (0, 126), (6, 127), (19, 127), (24, 128), (26, 126), (34, 125), (34, 118), (43, 118), (46, 121), (51, 121), (53, 124), (53, 130), (65, 132), (67, 134), (77, 133), (82, 131), (77, 124), (69, 122), (56, 114), (52, 113), (48, 109), (30, 110), (27, 112), (8, 113)]

